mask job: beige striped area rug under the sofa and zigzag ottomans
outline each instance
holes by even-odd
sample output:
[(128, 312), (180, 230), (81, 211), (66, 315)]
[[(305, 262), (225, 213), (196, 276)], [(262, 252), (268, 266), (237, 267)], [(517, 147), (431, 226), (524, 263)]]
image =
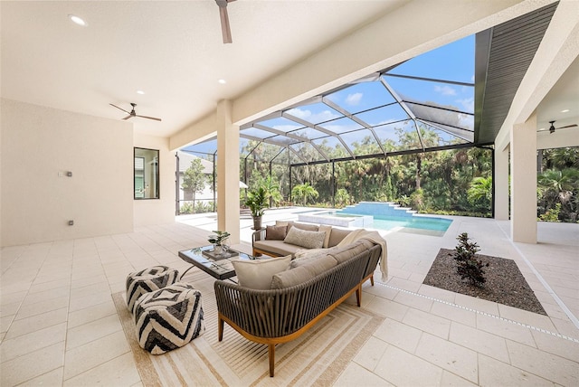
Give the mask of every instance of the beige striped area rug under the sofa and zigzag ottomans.
[(168, 385), (318, 385), (335, 382), (384, 317), (346, 300), (298, 339), (276, 346), (275, 377), (269, 373), (268, 348), (252, 343), (225, 324), (217, 340), (214, 278), (197, 269), (185, 282), (203, 295), (204, 335), (166, 354), (152, 355), (140, 348), (135, 323), (123, 292), (113, 301), (145, 386)]

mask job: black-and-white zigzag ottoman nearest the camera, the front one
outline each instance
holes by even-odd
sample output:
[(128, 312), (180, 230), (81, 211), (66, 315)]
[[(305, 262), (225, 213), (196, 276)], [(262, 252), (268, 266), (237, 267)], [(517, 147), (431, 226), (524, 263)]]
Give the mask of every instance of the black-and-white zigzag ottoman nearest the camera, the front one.
[(201, 293), (184, 282), (139, 297), (134, 315), (138, 345), (151, 354), (165, 354), (205, 332)]

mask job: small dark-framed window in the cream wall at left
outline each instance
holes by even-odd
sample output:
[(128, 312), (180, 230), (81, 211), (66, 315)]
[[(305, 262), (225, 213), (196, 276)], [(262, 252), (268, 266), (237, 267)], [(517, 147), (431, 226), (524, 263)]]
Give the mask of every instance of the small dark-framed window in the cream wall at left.
[(135, 148), (135, 199), (159, 198), (159, 151)]

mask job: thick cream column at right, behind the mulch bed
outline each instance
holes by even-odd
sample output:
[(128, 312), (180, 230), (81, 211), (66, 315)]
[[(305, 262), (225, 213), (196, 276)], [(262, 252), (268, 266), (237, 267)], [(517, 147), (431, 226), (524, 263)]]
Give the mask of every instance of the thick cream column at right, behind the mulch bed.
[(510, 232), (513, 241), (536, 243), (536, 114), (510, 132)]

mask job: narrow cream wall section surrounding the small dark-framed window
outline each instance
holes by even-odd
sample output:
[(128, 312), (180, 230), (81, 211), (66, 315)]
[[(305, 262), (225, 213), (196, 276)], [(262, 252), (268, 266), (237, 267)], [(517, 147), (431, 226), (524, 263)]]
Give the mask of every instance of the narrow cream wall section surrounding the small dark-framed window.
[(166, 137), (140, 135), (136, 132), (133, 144), (137, 147), (157, 149), (159, 151), (159, 182), (161, 184), (159, 187), (159, 199), (133, 201), (135, 227), (175, 222), (176, 159), (175, 152), (169, 151), (169, 139)]

